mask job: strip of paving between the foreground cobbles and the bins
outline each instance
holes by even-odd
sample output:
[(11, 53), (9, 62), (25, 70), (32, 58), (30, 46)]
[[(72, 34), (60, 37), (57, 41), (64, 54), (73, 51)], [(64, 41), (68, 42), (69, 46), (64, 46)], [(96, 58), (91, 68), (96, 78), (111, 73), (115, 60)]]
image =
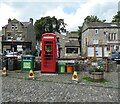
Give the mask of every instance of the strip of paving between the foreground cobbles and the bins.
[[(76, 84), (72, 81), (72, 73), (71, 74), (44, 74), (40, 73), (40, 71), (35, 71), (34, 76), (36, 81), (41, 82), (54, 82), (54, 83), (65, 83), (65, 84)], [(81, 85), (91, 85), (91, 86), (100, 86), (100, 87), (114, 87), (118, 88), (118, 73), (119, 72), (105, 72), (104, 78), (108, 81), (106, 83), (95, 83), (90, 81), (85, 81), (82, 78), (89, 76), (88, 72), (80, 72), (78, 73), (79, 83)], [(8, 77), (10, 78), (18, 78), (27, 80), (29, 76), (29, 72), (8, 72)]]

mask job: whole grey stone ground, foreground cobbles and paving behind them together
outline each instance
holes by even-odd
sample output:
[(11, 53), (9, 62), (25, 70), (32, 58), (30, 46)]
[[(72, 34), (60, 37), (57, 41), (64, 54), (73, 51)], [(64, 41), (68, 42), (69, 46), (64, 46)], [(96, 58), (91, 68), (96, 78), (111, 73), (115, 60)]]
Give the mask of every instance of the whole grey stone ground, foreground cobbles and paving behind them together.
[[(120, 70), (120, 65), (117, 66)], [(72, 74), (44, 74), (35, 71), (36, 80), (28, 80), (28, 72), (9, 71), (2, 78), (2, 102), (112, 102), (119, 99), (119, 71), (105, 72), (105, 83), (83, 80), (88, 72), (78, 72), (79, 81)]]

